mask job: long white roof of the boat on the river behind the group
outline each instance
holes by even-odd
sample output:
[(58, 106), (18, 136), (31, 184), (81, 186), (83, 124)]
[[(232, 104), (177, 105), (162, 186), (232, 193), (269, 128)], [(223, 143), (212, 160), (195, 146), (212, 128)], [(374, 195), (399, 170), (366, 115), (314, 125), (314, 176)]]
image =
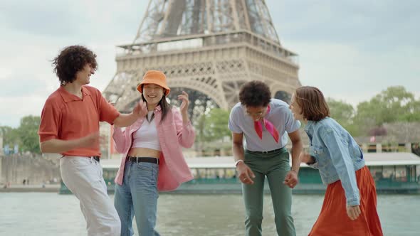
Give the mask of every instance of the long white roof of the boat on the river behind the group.
[[(420, 157), (409, 152), (367, 153), (363, 154), (367, 166), (406, 166), (420, 165)], [(189, 168), (234, 168), (233, 156), (208, 156), (186, 158)], [(120, 159), (102, 159), (103, 168), (118, 168)], [(308, 167), (301, 163), (300, 167)]]

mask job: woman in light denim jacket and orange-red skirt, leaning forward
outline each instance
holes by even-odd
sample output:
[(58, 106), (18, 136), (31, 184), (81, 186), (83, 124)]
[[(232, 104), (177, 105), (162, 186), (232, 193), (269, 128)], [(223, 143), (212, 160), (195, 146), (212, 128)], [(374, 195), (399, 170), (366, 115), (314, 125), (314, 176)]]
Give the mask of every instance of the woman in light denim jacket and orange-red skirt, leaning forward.
[(290, 109), (308, 122), (309, 154), (300, 161), (320, 171), (327, 184), (321, 213), (309, 235), (383, 235), (377, 214), (377, 193), (362, 150), (355, 139), (330, 118), (324, 95), (316, 87), (299, 87)]

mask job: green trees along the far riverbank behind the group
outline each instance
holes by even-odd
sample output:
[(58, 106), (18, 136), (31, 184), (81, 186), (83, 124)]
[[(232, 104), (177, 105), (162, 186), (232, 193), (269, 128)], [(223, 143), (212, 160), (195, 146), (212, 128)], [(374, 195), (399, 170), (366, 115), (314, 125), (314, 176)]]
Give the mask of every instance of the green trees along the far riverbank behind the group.
[[(357, 107), (331, 98), (327, 98), (327, 103), (331, 117), (342, 124), (352, 136), (387, 135), (384, 124), (409, 124), (412, 129), (416, 128), (414, 126), (417, 123), (420, 124), (420, 100), (416, 100), (414, 94), (407, 92), (402, 86), (388, 87), (371, 100), (360, 102)], [(202, 114), (194, 121), (196, 143), (201, 147), (214, 141), (229, 139), (231, 132), (228, 121), (229, 111), (224, 109), (215, 108)], [(30, 115), (21, 119), (18, 128), (0, 126), (3, 146), (9, 145), (13, 149), (17, 144), (20, 152), (40, 154), (37, 133), (40, 122), (41, 117)], [(410, 130), (404, 129), (408, 132)]]

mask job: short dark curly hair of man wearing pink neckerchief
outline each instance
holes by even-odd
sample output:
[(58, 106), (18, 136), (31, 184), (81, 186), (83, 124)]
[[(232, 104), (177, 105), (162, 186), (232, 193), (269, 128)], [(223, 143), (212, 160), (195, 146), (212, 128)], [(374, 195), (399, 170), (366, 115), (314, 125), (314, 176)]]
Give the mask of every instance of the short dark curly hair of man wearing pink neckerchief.
[(247, 107), (266, 107), (271, 100), (270, 88), (266, 83), (253, 80), (242, 85), (239, 101)]

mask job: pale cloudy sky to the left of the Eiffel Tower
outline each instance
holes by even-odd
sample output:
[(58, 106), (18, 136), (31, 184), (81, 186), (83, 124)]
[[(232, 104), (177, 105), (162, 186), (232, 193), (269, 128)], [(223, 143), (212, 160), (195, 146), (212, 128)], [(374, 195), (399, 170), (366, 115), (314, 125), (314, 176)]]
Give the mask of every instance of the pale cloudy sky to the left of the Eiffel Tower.
[(91, 85), (100, 90), (115, 74), (115, 45), (130, 43), (146, 1), (8, 1), (0, 9), (0, 125), (19, 126), (40, 115), (59, 85), (51, 60), (67, 45), (98, 55)]

